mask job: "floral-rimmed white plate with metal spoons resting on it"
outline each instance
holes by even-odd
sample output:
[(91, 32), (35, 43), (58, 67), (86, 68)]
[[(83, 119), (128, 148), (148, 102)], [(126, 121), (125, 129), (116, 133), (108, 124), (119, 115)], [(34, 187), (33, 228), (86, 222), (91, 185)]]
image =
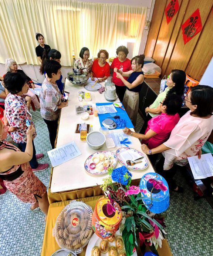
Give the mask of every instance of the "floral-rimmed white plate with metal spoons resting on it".
[[(133, 169), (133, 170), (143, 170), (149, 164), (149, 161), (146, 158), (146, 156), (142, 152), (135, 150), (134, 148), (119, 148), (116, 151), (116, 156), (117, 156), (119, 162), (121, 162), (123, 165), (125, 165), (126, 167), (129, 167), (130, 169)], [(133, 161), (142, 156), (144, 158), (141, 160), (142, 161), (141, 163), (138, 163), (135, 165), (127, 165), (126, 164), (126, 160)]]

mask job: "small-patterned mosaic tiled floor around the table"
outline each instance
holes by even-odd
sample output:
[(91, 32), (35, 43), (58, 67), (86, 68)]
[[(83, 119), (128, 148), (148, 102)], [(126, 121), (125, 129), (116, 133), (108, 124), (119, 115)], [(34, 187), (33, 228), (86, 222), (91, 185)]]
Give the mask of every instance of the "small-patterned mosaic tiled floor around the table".
[[(39, 111), (33, 112), (33, 120), (37, 130), (36, 150), (45, 153), (40, 163), (47, 163), (46, 152), (51, 149), (48, 131)], [(139, 116), (137, 131), (141, 125)], [(36, 174), (48, 186), (50, 167)], [(213, 210), (204, 198), (194, 201), (192, 188), (184, 175), (177, 173), (176, 179), (185, 192), (170, 194), (166, 232), (172, 253), (174, 256), (212, 256)], [(9, 191), (0, 195), (0, 256), (41, 255), (44, 214), (40, 210), (30, 211), (29, 208), (30, 204), (22, 203)]]

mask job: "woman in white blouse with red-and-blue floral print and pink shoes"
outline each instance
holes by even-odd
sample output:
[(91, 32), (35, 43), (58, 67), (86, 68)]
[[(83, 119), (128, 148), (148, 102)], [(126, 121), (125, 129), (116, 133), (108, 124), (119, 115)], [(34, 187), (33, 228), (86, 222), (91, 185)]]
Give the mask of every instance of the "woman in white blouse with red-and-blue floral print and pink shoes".
[[(28, 109), (24, 100), (23, 93), (27, 93), (29, 86), (26, 82), (26, 76), (22, 73), (7, 73), (4, 77), (5, 88), (9, 94), (5, 99), (5, 114), (9, 123), (9, 132), (13, 140), (19, 145), (22, 152), (27, 146), (27, 129), (33, 122), (28, 117)], [(36, 131), (32, 139), (36, 137)], [(43, 171), (48, 168), (48, 164), (38, 164), (37, 160), (41, 159), (44, 154), (36, 154), (36, 149), (33, 142), (33, 158), (30, 160), (30, 166), (33, 171)]]

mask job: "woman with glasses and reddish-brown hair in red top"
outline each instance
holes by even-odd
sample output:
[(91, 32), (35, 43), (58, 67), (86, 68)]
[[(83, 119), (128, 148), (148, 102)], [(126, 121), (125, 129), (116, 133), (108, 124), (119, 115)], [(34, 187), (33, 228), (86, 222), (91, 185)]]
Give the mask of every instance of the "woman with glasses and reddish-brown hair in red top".
[(95, 77), (99, 82), (103, 82), (110, 76), (110, 66), (109, 63), (106, 62), (106, 59), (109, 58), (109, 53), (106, 50), (99, 50), (98, 59), (94, 60), (92, 63), (91, 69), (91, 80), (94, 81)]

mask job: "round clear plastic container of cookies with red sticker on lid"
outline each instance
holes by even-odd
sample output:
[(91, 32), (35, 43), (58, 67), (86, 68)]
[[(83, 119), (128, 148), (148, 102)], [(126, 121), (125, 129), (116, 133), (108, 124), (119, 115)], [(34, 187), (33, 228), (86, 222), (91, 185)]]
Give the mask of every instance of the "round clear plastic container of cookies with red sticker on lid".
[(74, 253), (82, 252), (92, 236), (92, 209), (83, 202), (71, 201), (55, 223), (53, 233), (58, 245)]

